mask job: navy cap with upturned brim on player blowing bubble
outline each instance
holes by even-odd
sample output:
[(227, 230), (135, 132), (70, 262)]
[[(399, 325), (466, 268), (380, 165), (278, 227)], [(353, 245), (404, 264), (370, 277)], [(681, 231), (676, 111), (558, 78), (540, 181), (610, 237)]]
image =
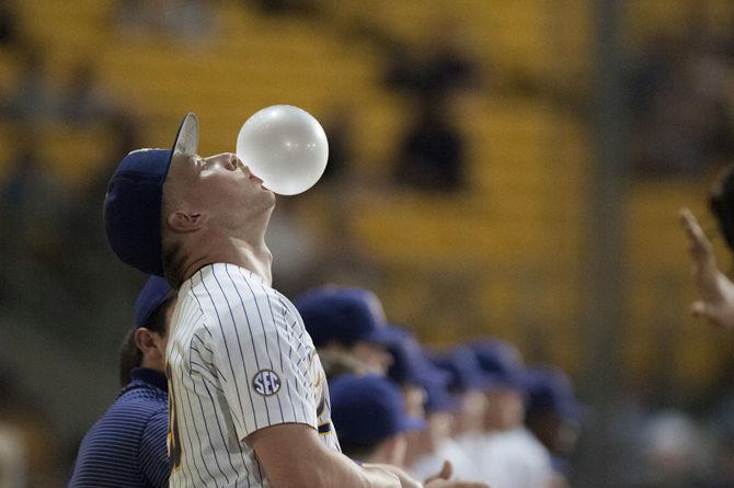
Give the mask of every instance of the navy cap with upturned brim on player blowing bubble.
[(110, 247), (121, 261), (144, 273), (163, 275), (161, 202), (173, 156), (196, 155), (198, 121), (184, 116), (171, 149), (138, 149), (115, 169), (104, 198)]

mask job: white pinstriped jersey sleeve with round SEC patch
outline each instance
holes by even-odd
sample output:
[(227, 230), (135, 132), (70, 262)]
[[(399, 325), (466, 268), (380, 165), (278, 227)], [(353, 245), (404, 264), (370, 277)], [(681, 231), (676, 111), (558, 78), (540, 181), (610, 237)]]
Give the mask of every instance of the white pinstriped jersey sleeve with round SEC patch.
[(316, 351), (302, 322), (257, 284), (234, 291), (217, 304), (213, 361), (238, 438), (280, 423), (318, 429)]

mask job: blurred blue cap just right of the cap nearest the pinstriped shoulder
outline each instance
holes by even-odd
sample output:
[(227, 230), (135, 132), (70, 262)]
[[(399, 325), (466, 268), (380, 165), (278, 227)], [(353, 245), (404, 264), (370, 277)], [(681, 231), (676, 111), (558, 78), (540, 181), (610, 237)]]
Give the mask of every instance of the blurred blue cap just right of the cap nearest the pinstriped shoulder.
[(448, 382), (448, 373), (428, 361), (415, 336), (401, 327), (391, 326), (391, 330), (393, 340), (388, 344), (388, 351), (392, 354), (392, 364), (388, 368), (388, 377), (401, 386), (424, 388), (434, 383)]

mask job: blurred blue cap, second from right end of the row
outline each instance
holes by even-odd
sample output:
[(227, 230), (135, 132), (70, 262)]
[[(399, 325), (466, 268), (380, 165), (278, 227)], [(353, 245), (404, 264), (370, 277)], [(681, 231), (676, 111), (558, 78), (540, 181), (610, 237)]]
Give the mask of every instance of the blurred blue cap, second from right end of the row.
[(484, 372), (489, 389), (505, 387), (525, 391), (527, 376), (517, 348), (497, 339), (471, 342), (469, 348)]

